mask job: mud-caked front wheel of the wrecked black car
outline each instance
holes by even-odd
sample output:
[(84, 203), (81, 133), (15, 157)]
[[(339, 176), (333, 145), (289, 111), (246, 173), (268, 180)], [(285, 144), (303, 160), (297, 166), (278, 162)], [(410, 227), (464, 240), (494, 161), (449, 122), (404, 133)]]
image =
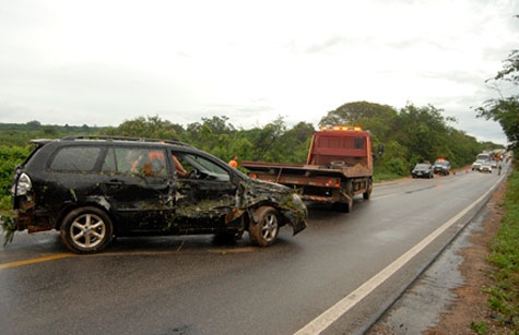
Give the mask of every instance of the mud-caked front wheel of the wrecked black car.
[(278, 212), (271, 206), (261, 206), (255, 211), (257, 222), (249, 224), (250, 242), (255, 246), (267, 247), (272, 244), (280, 231)]

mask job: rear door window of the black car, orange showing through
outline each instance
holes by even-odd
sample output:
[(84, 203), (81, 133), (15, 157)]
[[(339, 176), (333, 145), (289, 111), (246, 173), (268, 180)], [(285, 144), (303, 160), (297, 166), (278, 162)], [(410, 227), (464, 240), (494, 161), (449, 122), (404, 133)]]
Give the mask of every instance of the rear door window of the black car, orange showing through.
[(155, 148), (109, 148), (102, 171), (142, 177), (167, 177), (166, 153)]

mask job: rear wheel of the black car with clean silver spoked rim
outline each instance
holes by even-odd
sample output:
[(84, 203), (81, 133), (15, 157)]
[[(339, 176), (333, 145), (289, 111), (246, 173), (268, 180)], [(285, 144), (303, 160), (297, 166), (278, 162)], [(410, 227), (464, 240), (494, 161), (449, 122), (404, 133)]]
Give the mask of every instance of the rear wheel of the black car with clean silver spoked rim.
[(75, 253), (94, 253), (105, 249), (114, 236), (114, 225), (106, 212), (97, 207), (80, 207), (63, 218), (61, 241)]

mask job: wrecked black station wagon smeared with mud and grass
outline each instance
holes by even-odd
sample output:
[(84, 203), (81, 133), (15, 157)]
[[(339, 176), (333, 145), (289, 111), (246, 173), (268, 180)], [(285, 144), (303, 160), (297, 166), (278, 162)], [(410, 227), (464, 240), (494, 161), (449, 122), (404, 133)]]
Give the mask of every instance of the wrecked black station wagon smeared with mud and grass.
[(178, 141), (114, 136), (33, 140), (13, 177), (17, 230), (57, 229), (72, 251), (92, 253), (115, 236), (247, 230), (269, 246), (280, 227), (306, 228), (290, 188), (253, 180)]

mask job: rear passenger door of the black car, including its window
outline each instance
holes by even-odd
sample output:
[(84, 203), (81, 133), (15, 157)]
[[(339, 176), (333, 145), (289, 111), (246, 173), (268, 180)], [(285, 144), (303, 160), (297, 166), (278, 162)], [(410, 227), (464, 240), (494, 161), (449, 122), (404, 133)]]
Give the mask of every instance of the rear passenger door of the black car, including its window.
[(173, 178), (164, 148), (108, 147), (103, 192), (121, 231), (162, 231), (174, 214)]

